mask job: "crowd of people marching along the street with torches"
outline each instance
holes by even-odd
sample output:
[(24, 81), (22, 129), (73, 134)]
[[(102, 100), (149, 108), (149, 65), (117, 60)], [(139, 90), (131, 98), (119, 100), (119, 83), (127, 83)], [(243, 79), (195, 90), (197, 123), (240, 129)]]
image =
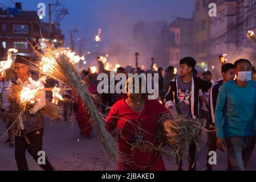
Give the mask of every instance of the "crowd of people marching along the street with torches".
[[(13, 72), (7, 72), (6, 78), (1, 82), (1, 108), (2, 114), (9, 109), (6, 96), (11, 84), (26, 85), (33, 75), (30, 72), (29, 57), (18, 55)], [(157, 146), (155, 134), (157, 121), (162, 114), (180, 114), (186, 119), (204, 119), (207, 131), (201, 130), (196, 138), (191, 139), (188, 151), (189, 170), (196, 170), (198, 146), (202, 132), (207, 132), (209, 151), (226, 151), (229, 170), (245, 170), (255, 146), (255, 106), (256, 106), (256, 70), (249, 60), (239, 59), (234, 64), (222, 65), (222, 79), (214, 82), (212, 73), (205, 71), (198, 77), (196, 60), (193, 57), (184, 57), (180, 60), (180, 74), (174, 74), (174, 67), (159, 68), (157, 71), (143, 71), (140, 68), (118, 68), (117, 73), (159, 73), (159, 98), (149, 100), (147, 93), (129, 92), (97, 93), (96, 75), (90, 70), (81, 71), (80, 76), (84, 85), (94, 98), (95, 105), (106, 115), (105, 123), (109, 132), (115, 136), (118, 133), (117, 170), (165, 170), (165, 164), (154, 148), (144, 148), (145, 143)], [(36, 80), (36, 78), (33, 78)], [(131, 80), (127, 80), (126, 85)], [(56, 84), (54, 82), (54, 84)], [(133, 83), (134, 84), (134, 83)], [(135, 85), (133, 85), (135, 86)], [(75, 114), (80, 127), (80, 135), (90, 139), (92, 137), (92, 121), (87, 106), (73, 93), (68, 96), (64, 105), (64, 118)], [(72, 97), (71, 97), (72, 96)], [(45, 106), (46, 93), (42, 92), (40, 99), (24, 118), (20, 119), (22, 135), (17, 136), (9, 130), (6, 143), (15, 146), (15, 159), (19, 170), (28, 170), (26, 150), (38, 159), (36, 155), (42, 150), (44, 122), (36, 112)], [(68, 107), (70, 105), (70, 107)], [(70, 108), (70, 109), (69, 109)], [(6, 128), (9, 129), (8, 118)], [(133, 147), (134, 145), (139, 147)], [(141, 148), (140, 148), (141, 147)], [(206, 170), (212, 171), (206, 155)], [(178, 171), (182, 167), (182, 154), (176, 156)], [(50, 162), (40, 165), (45, 170), (53, 170)]]

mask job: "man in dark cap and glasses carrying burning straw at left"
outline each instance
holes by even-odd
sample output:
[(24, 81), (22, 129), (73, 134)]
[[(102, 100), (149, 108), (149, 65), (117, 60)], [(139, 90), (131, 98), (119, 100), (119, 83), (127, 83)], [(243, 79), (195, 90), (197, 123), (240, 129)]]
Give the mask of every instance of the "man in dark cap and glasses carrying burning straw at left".
[[(30, 57), (17, 55), (14, 62), (14, 72), (17, 75), (17, 79), (13, 81), (14, 84), (26, 86), (29, 83), (29, 78), (31, 78), (29, 60)], [(26, 149), (38, 164), (41, 162), (38, 161), (40, 157), (38, 154), (40, 154), (39, 151), (42, 151), (44, 121), (37, 111), (46, 105), (45, 90), (40, 90), (38, 97), (40, 100), (34, 108), (25, 113), (24, 117), (19, 120), (22, 129), (21, 136), (15, 136), (15, 160), (19, 171), (29, 170), (25, 155)], [(50, 171), (54, 169), (47, 158), (42, 160), (39, 165), (44, 170)]]

